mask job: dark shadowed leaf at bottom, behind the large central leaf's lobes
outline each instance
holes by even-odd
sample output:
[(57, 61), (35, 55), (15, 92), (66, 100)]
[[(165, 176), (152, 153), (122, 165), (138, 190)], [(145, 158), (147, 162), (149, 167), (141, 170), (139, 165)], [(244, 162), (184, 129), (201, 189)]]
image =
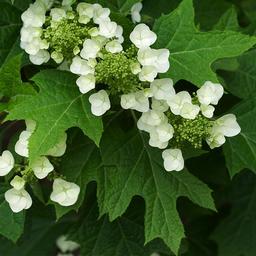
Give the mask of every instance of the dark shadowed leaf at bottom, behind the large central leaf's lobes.
[[(79, 224), (74, 226), (71, 239), (81, 245), (81, 255), (87, 256), (149, 256), (153, 252), (170, 256), (160, 240), (144, 246), (143, 203), (134, 200), (124, 216), (110, 222), (104, 215), (97, 219), (98, 209), (95, 203), (86, 206)], [(72, 232), (72, 231), (71, 231)]]

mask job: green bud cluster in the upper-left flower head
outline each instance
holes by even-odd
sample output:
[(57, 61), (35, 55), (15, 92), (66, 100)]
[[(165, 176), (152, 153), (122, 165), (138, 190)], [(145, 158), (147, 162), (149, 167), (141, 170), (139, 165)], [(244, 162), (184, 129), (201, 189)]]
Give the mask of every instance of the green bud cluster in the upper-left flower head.
[(74, 52), (81, 49), (83, 42), (89, 37), (90, 27), (78, 22), (77, 17), (62, 19), (54, 26), (44, 29), (42, 39), (50, 45), (51, 53), (62, 54), (65, 59), (72, 59)]

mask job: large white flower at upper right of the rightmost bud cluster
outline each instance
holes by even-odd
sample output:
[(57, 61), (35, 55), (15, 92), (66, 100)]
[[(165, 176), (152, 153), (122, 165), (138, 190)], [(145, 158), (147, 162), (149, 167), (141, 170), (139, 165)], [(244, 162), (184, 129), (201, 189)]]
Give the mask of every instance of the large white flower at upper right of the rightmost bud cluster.
[(220, 84), (214, 84), (210, 81), (204, 83), (204, 85), (197, 90), (197, 97), (201, 104), (204, 105), (217, 105), (221, 97), (223, 96), (224, 89)]

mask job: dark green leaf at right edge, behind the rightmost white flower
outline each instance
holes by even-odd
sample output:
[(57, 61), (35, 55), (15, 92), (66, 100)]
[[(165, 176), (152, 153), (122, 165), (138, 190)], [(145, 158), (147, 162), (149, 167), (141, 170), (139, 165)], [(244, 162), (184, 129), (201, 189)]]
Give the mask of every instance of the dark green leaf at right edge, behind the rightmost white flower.
[(224, 145), (227, 167), (230, 176), (244, 168), (256, 172), (256, 97), (243, 101), (233, 111), (241, 126), (241, 133), (227, 139)]

